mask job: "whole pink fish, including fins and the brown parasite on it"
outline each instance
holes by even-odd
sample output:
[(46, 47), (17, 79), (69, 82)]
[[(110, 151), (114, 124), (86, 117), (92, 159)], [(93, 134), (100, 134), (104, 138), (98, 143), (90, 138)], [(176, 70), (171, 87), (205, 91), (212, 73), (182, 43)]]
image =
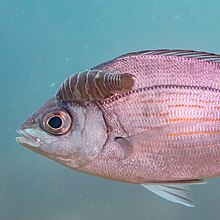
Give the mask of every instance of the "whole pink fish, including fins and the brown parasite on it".
[(76, 171), (188, 207), (220, 176), (220, 55), (132, 52), (67, 78), (16, 141)]

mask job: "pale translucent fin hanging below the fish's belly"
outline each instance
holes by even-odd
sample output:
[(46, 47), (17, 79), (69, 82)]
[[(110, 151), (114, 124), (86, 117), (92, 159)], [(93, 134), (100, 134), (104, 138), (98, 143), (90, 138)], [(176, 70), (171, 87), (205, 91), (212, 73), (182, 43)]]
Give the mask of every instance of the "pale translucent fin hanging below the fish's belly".
[(191, 189), (187, 184), (141, 185), (171, 202), (179, 203), (188, 207), (194, 207)]

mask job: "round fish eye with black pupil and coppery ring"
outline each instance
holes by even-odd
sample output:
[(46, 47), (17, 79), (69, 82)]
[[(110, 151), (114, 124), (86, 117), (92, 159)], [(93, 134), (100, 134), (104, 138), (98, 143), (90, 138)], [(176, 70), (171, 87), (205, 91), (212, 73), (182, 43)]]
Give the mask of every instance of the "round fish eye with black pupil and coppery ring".
[(72, 124), (70, 115), (64, 111), (50, 112), (43, 119), (44, 129), (54, 135), (62, 135), (69, 131)]

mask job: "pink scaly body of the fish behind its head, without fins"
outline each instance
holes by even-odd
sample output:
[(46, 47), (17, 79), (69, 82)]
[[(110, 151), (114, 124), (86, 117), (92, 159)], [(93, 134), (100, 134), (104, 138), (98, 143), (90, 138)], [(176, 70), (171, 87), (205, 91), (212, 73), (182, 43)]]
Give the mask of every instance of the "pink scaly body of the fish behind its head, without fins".
[[(96, 159), (97, 165), (88, 166), (90, 169), (99, 175), (112, 169), (113, 179), (134, 183), (204, 179), (220, 174), (219, 63), (140, 53), (95, 68), (135, 76), (129, 94), (100, 104), (115, 136), (134, 140), (131, 149), (124, 143), (127, 156), (118, 160), (120, 164), (117, 156), (109, 163), (109, 156), (103, 154)], [(117, 148), (113, 143), (109, 145), (106, 149)], [(105, 164), (111, 165), (106, 169)], [(117, 169), (112, 164), (117, 164)]]

